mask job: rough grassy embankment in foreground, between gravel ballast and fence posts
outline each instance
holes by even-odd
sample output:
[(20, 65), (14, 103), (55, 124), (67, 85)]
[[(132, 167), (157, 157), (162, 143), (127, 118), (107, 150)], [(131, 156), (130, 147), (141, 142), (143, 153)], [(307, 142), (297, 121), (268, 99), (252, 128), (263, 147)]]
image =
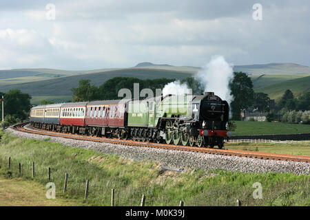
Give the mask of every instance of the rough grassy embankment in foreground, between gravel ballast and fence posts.
[[(309, 176), (291, 173), (233, 173), (225, 170), (188, 169), (175, 173), (161, 169), (156, 162), (134, 162), (116, 155), (72, 148), (48, 140), (25, 140), (4, 134), (0, 142), (1, 170), (11, 178), (31, 180), (31, 162), (35, 162), (33, 181), (42, 186), (56, 184), (56, 197), (75, 199), (90, 206), (110, 206), (111, 189), (115, 189), (116, 206), (138, 206), (141, 196), (146, 206), (234, 206), (236, 199), (245, 206), (310, 206)], [(12, 168), (6, 170), (8, 157)], [(63, 193), (65, 173), (68, 190)], [(90, 179), (90, 195), (83, 201), (85, 179)], [(262, 184), (262, 199), (254, 199), (253, 184)], [(1, 190), (1, 188), (0, 188)]]

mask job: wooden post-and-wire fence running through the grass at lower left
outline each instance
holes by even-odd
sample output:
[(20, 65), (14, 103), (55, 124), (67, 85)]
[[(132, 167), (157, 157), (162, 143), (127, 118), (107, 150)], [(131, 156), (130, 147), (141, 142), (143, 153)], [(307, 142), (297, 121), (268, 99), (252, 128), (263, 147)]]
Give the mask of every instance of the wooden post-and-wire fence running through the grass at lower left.
[[(53, 170), (50, 166), (46, 168), (36, 166), (35, 162), (21, 164), (12, 157), (5, 158), (0, 156), (0, 168), (8, 178), (21, 177), (23, 179), (35, 179), (42, 184), (55, 184), (58, 189), (57, 194), (71, 195), (74, 199), (81, 199), (83, 197), (86, 201), (89, 198), (96, 198), (99, 203), (110, 199), (111, 206), (117, 206), (118, 201), (122, 199), (117, 188), (112, 188), (114, 184), (111, 181), (106, 183), (105, 189), (111, 189), (110, 192), (107, 192), (107, 190), (103, 190), (103, 186), (97, 184), (97, 181), (90, 181), (87, 178), (81, 179), (81, 177), (74, 176), (74, 173), (63, 173), (62, 176), (53, 175), (53, 171), (56, 170)], [(96, 197), (99, 193), (101, 194), (101, 201), (98, 201), (98, 197)], [(131, 201), (131, 205), (145, 206), (145, 204), (147, 204), (147, 198), (144, 194), (141, 197), (141, 201)], [(184, 201), (181, 200), (179, 206), (184, 206)]]

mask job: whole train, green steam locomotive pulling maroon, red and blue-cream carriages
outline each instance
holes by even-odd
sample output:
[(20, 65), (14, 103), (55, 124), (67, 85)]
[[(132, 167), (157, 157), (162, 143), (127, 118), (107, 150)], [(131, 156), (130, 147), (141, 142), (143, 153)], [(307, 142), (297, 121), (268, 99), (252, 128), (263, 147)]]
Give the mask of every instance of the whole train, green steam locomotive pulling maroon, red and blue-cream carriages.
[(32, 126), (143, 142), (223, 148), (229, 105), (213, 92), (145, 100), (100, 100), (33, 107)]

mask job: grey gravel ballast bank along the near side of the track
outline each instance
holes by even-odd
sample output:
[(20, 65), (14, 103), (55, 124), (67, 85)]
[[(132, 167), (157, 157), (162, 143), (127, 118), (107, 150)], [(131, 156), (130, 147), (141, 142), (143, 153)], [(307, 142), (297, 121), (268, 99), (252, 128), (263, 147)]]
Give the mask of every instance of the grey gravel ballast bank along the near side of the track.
[(52, 137), (48, 135), (24, 133), (11, 128), (6, 129), (6, 132), (10, 132), (13, 136), (27, 139), (44, 140), (49, 137), (50, 142), (57, 142), (65, 146), (91, 149), (105, 154), (115, 154), (137, 161), (155, 160), (161, 162), (163, 166), (168, 166), (169, 168), (175, 168), (179, 170), (183, 170), (185, 167), (202, 168), (203, 170), (214, 170), (220, 168), (240, 172), (278, 172), (295, 173), (297, 175), (309, 175), (310, 164), (305, 162), (211, 155), (206, 153), (173, 151), (161, 148), (125, 146), (121, 144), (73, 140), (65, 137)]

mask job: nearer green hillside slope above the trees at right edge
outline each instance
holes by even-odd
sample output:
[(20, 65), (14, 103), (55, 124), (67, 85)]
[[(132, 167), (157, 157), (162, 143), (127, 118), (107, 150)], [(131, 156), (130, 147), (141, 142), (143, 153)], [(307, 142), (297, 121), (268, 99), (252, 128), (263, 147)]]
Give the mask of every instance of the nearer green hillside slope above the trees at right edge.
[(310, 76), (259, 87), (255, 91), (268, 94), (271, 99), (278, 99), (283, 96), (287, 89), (290, 89), (296, 97), (306, 91), (310, 91)]

